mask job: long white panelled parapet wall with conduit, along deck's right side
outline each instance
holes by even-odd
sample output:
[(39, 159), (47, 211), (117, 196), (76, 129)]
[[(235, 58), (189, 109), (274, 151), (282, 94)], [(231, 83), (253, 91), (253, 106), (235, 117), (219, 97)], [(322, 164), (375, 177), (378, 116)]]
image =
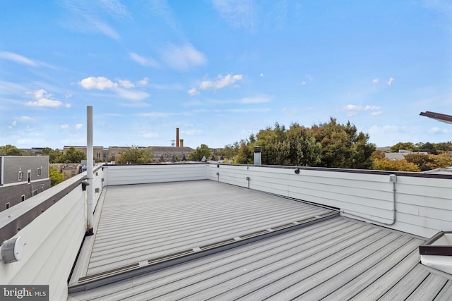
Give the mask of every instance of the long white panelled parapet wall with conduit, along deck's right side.
[(362, 216), (363, 220), (371, 219), (381, 226), (425, 238), (438, 231), (452, 230), (452, 178), (430, 176), (398, 173), (396, 223), (388, 226), (383, 224), (393, 219), (393, 183), (388, 173), (302, 168), (296, 174), (294, 168), (227, 164), (211, 165), (208, 173), (211, 180), (242, 187), (248, 187), (246, 177), (249, 177), (251, 189), (337, 207), (344, 216), (354, 219)]

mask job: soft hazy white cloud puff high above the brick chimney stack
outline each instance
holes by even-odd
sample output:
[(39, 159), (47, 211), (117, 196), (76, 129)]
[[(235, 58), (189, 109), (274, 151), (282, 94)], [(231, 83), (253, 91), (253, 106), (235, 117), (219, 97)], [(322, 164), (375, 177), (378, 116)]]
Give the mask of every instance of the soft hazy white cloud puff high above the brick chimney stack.
[(207, 62), (204, 54), (191, 44), (184, 44), (180, 47), (171, 44), (167, 49), (161, 51), (161, 56), (168, 66), (177, 70), (188, 70), (192, 67), (203, 66)]

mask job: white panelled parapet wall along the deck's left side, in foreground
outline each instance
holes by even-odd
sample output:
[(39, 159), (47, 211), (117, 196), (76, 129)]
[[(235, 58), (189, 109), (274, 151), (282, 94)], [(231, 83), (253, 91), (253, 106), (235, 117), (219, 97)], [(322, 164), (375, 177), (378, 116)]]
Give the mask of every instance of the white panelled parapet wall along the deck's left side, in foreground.
[[(85, 176), (86, 173), (81, 173), (49, 188), (32, 200), (37, 204)], [(102, 176), (103, 172), (100, 169), (97, 176), (94, 176), (95, 187), (100, 185)], [(20, 236), (26, 243), (24, 257), (19, 262), (10, 264), (0, 262), (1, 284), (49, 285), (50, 300), (66, 300), (67, 279), (85, 235), (85, 194), (82, 186), (77, 185), (75, 189), (14, 235), (14, 237)], [(97, 203), (100, 193), (95, 196)], [(25, 205), (25, 203), (21, 204)], [(30, 203), (26, 205), (30, 207)], [(7, 211), (1, 214), (5, 212)], [(4, 219), (5, 216), (0, 218)]]

